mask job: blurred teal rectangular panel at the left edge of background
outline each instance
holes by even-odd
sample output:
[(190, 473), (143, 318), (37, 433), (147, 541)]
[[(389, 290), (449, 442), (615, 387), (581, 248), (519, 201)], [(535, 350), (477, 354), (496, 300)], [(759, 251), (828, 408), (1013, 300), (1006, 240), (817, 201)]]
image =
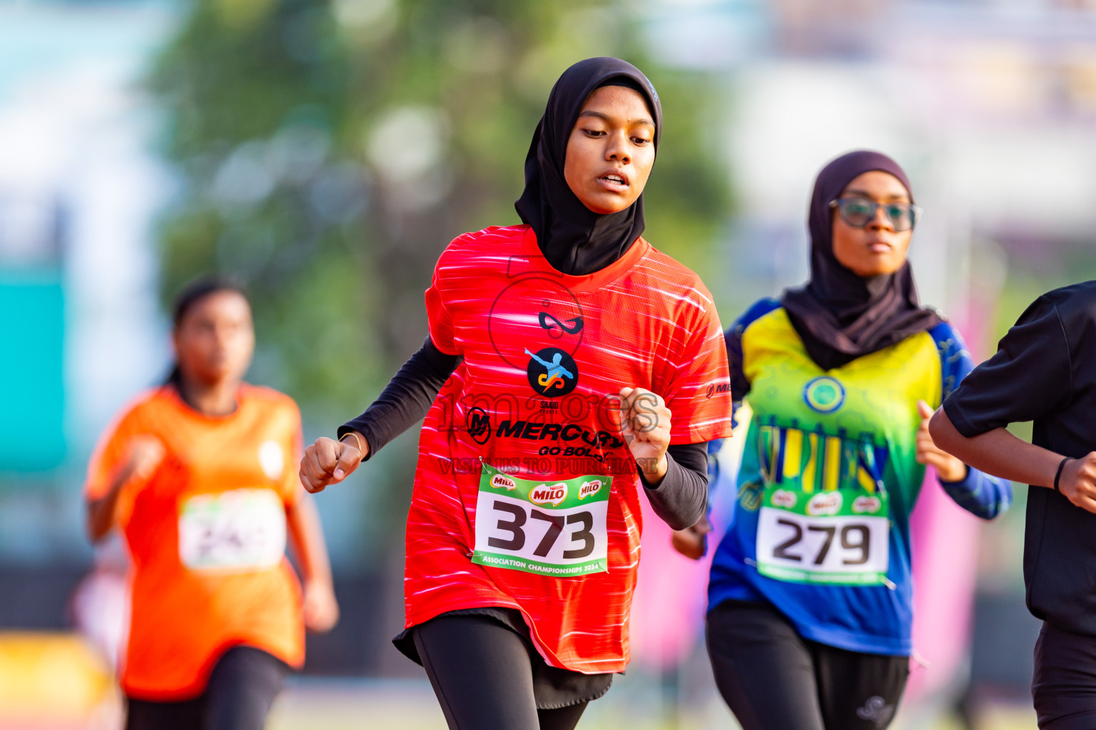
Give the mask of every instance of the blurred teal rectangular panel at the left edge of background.
[(0, 472), (65, 460), (64, 344), (60, 277), (0, 274)]

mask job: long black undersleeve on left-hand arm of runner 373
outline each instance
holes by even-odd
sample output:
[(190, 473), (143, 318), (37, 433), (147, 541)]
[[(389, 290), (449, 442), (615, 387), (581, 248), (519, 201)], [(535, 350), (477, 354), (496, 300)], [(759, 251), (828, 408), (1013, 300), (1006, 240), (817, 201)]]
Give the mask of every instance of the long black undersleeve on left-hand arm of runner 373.
[(364, 436), (369, 443), (369, 454), (365, 457), (368, 461), (381, 447), (426, 415), (437, 392), (459, 363), (460, 356), (446, 355), (427, 337), (392, 375), (373, 405), (339, 427), (339, 438), (350, 431)]

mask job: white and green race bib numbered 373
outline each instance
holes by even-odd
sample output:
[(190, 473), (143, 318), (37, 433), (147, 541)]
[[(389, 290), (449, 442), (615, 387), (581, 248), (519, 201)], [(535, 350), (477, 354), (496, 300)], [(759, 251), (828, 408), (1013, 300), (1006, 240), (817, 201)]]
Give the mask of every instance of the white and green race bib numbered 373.
[(612, 486), (607, 476), (521, 479), (484, 463), (472, 563), (560, 578), (608, 570)]

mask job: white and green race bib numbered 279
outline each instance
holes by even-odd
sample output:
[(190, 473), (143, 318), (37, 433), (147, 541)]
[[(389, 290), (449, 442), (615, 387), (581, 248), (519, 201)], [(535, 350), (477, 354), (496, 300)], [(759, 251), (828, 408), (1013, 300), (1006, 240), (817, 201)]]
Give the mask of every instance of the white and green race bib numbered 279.
[(878, 586), (890, 565), (887, 493), (769, 486), (757, 515), (757, 571), (777, 580)]

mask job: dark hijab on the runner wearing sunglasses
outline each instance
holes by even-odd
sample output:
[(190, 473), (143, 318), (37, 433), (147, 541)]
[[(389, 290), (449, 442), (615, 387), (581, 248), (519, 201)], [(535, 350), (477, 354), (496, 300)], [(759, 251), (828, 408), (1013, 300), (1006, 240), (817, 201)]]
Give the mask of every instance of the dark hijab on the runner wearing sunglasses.
[(800, 289), (786, 289), (780, 298), (807, 354), (823, 370), (840, 368), (940, 322), (936, 312), (917, 301), (910, 262), (894, 274), (863, 278), (833, 255), (830, 201), (857, 175), (874, 170), (897, 177), (913, 201), (905, 173), (886, 154), (849, 152), (827, 164), (814, 181), (811, 196), (811, 280)]

